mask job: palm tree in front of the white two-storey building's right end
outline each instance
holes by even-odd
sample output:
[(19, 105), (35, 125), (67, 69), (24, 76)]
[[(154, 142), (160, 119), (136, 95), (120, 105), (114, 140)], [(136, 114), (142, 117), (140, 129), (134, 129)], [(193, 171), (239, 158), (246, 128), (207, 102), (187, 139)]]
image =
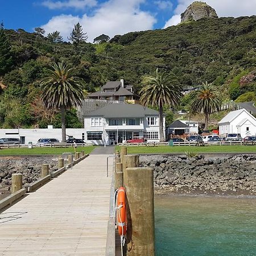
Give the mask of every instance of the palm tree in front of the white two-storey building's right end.
[(144, 106), (158, 107), (160, 142), (163, 142), (163, 108), (165, 105), (176, 106), (179, 103), (182, 96), (181, 85), (174, 75), (167, 72), (160, 73), (158, 69), (156, 69), (155, 76), (144, 77), (142, 84), (145, 86), (139, 92), (140, 101)]

